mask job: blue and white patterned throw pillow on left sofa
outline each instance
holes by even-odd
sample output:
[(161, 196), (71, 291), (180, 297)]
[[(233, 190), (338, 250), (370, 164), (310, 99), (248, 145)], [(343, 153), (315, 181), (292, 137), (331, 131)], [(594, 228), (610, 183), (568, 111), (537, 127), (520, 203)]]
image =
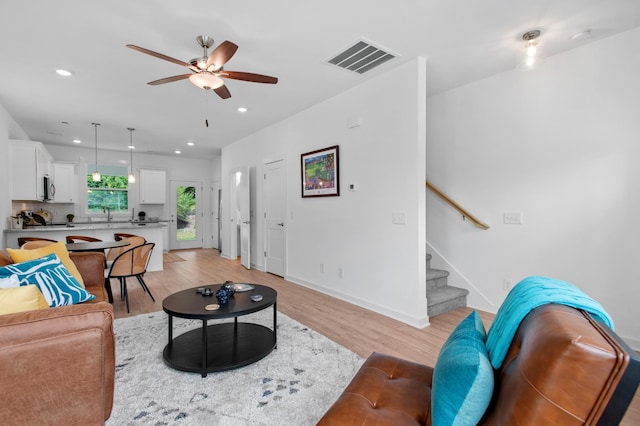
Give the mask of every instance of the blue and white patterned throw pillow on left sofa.
[(96, 297), (85, 290), (60, 258), (50, 254), (38, 259), (0, 267), (0, 278), (16, 276), (21, 286), (35, 284), (49, 307), (73, 305)]

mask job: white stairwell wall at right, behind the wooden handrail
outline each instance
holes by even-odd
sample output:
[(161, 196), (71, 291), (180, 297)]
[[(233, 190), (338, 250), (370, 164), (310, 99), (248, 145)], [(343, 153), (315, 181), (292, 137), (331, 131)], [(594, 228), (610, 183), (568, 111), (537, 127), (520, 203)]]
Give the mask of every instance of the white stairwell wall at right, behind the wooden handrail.
[[(504, 280), (556, 277), (640, 347), (639, 75), (637, 29), (428, 99), (427, 177), (491, 226), (427, 195), (435, 262), (471, 289), (470, 305), (495, 311)], [(510, 211), (522, 225), (502, 223)]]

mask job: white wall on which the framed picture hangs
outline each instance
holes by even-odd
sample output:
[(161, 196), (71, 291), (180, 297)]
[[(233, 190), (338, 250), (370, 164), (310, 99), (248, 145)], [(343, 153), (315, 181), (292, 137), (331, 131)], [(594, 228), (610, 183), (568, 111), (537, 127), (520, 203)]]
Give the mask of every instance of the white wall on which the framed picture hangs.
[[(260, 177), (265, 160), (285, 159), (287, 279), (415, 326), (428, 323), (425, 84), (425, 61), (415, 59), (222, 151), (223, 191), (235, 168), (250, 167)], [(353, 117), (362, 117), (362, 125), (349, 129)], [(332, 145), (340, 147), (340, 196), (302, 199), (300, 154)], [(357, 183), (358, 191), (350, 192), (349, 183)], [(260, 218), (261, 179), (252, 190), (251, 208)], [(393, 212), (404, 212), (407, 224), (392, 224)], [(261, 246), (264, 226), (257, 222)], [(228, 241), (223, 238), (223, 255)], [(262, 265), (260, 249), (257, 254)]]

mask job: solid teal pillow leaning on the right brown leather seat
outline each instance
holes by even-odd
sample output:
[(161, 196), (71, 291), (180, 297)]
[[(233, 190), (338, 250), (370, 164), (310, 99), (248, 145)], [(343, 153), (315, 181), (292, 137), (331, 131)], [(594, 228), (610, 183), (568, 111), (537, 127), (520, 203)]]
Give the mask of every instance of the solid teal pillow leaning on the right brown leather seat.
[(494, 371), (476, 311), (451, 333), (433, 371), (431, 412), (434, 426), (475, 425), (493, 395)]

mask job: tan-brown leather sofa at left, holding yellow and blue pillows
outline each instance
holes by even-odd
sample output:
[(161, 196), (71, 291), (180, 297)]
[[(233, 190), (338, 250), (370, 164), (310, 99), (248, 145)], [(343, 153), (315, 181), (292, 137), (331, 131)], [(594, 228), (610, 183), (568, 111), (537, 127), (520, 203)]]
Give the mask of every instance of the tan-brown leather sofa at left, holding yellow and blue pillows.
[[(0, 424), (98, 425), (111, 415), (115, 340), (104, 255), (70, 256), (94, 300), (0, 315)], [(9, 263), (0, 251), (0, 266)]]

